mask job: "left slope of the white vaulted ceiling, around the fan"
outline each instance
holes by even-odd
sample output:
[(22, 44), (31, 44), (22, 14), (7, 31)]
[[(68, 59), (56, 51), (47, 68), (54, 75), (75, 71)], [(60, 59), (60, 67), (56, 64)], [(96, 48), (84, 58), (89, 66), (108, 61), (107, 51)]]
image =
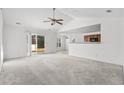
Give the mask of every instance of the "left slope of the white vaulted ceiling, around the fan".
[(48, 17), (52, 17), (52, 8), (4, 8), (3, 10), (4, 24), (17, 25), (16, 22), (20, 22), (23, 27), (36, 28), (36, 29), (60, 29), (67, 24), (71, 17), (65, 15), (56, 9), (56, 18), (63, 18), (64, 25), (56, 24), (51, 26), (50, 23), (44, 23), (43, 21), (49, 20)]

